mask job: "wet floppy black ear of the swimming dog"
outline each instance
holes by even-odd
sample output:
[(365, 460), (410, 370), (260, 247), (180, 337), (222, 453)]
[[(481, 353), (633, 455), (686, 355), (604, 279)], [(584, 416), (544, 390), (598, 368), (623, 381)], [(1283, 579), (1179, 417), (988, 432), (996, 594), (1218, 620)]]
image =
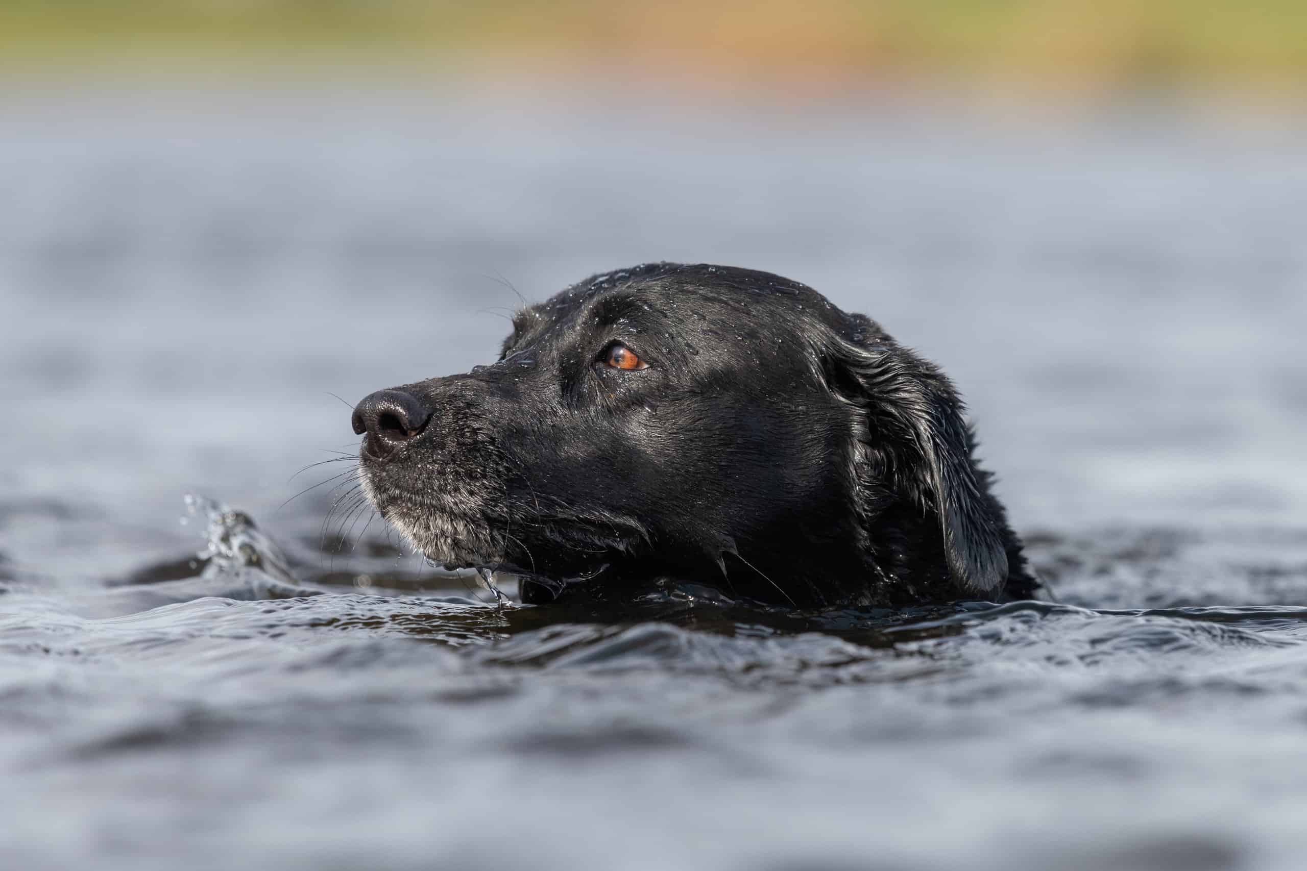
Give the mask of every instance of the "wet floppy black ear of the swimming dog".
[(954, 584), (997, 593), (1008, 578), (1005, 522), (971, 458), (963, 406), (948, 377), (853, 316), (852, 341), (833, 336), (822, 355), (831, 392), (860, 415), (855, 437), (901, 498), (938, 518)]

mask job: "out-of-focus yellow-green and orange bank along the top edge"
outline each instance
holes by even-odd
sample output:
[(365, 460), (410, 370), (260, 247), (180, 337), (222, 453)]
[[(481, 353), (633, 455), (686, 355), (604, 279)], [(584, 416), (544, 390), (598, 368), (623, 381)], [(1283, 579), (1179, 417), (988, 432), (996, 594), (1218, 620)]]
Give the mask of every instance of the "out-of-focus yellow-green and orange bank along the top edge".
[(1307, 3), (4, 0), (0, 59), (8, 72), (348, 60), (799, 90), (872, 80), (1295, 97), (1307, 82)]

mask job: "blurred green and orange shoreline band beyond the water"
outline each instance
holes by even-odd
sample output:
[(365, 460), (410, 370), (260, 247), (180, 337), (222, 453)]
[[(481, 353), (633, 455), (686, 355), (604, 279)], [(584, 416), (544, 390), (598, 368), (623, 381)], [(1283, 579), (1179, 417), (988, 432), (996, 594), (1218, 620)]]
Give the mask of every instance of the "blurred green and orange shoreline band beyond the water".
[(0, 87), (263, 81), (612, 89), (721, 103), (944, 95), (1013, 111), (1307, 108), (1294, 3), (481, 4), (97, 0), (0, 5)]

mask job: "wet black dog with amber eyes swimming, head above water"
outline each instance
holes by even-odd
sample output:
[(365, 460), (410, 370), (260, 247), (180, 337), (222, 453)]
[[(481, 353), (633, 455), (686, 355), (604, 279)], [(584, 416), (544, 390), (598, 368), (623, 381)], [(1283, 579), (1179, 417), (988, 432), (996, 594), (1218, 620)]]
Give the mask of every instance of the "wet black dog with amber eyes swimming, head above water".
[(374, 393), (353, 424), (386, 520), (527, 602), (659, 578), (797, 607), (1036, 588), (949, 380), (763, 272), (596, 276), (520, 311), (498, 363)]

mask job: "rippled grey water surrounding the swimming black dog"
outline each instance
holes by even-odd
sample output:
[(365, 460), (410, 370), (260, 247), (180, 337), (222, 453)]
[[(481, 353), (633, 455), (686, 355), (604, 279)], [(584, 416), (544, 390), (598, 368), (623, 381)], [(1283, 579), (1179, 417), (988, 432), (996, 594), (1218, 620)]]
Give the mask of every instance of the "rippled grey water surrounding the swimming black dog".
[[(0, 864), (1302, 867), (1303, 132), (9, 87)], [(349, 511), (348, 405), (647, 260), (940, 362), (1056, 601), (524, 607)]]

